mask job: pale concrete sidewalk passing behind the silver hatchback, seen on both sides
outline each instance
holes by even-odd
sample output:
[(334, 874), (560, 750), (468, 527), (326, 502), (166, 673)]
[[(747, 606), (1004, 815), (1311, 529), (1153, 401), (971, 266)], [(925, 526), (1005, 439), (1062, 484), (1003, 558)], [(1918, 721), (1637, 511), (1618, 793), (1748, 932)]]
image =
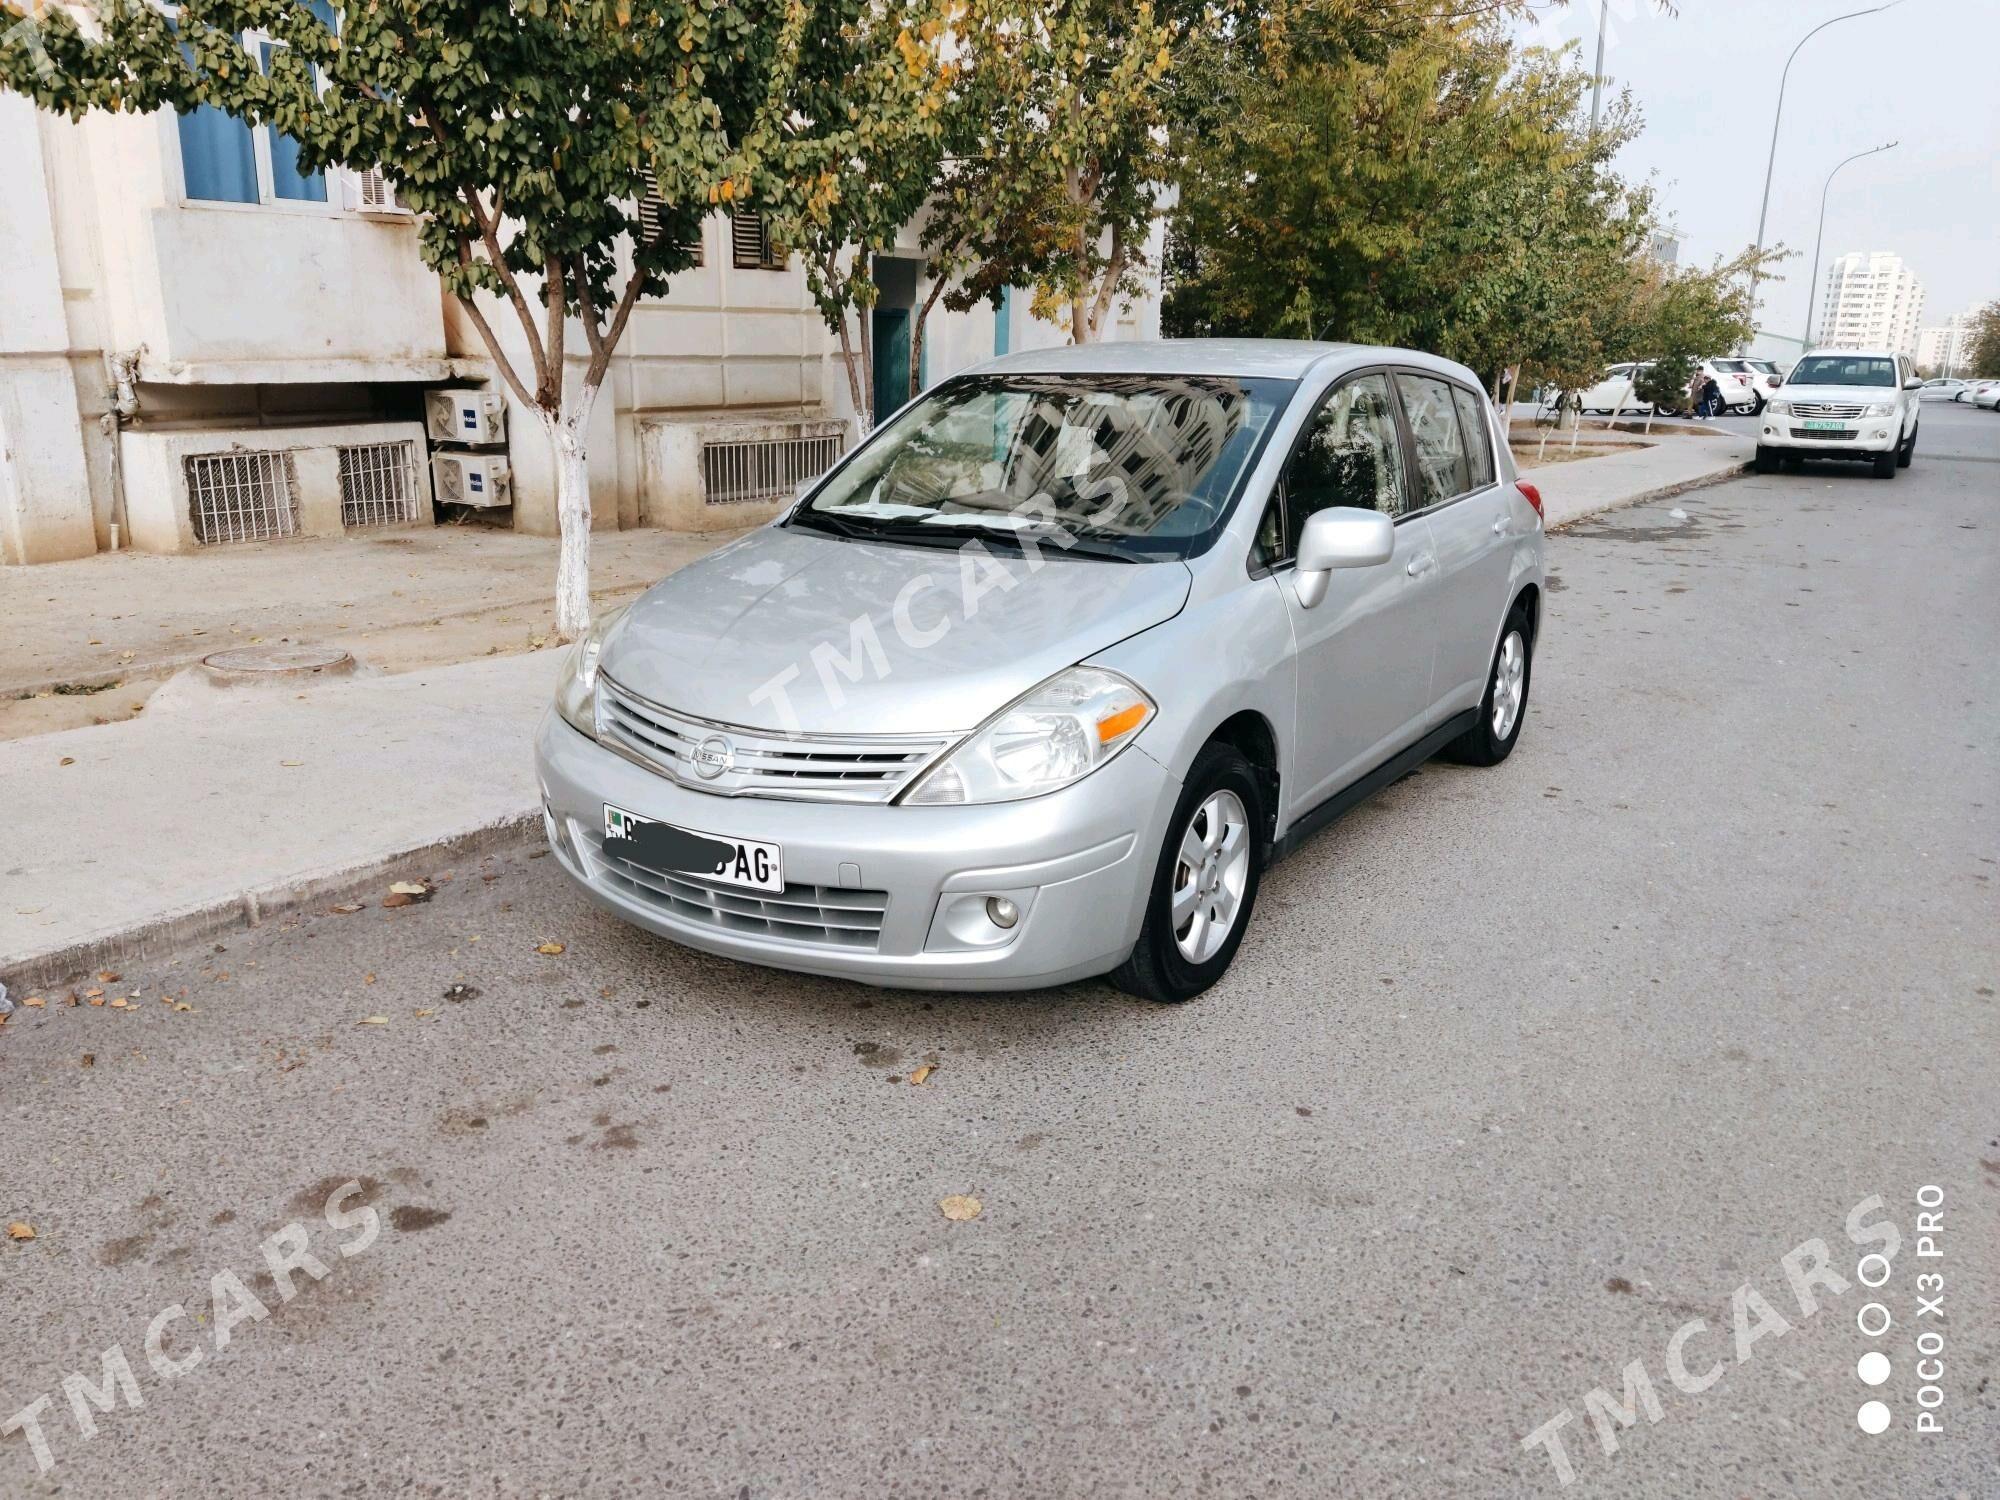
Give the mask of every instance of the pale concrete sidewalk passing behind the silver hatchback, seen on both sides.
[[(1526, 474), (1558, 528), (1730, 478), (1748, 456), (1684, 436)], [(0, 742), (0, 980), (20, 998), (26, 980), (534, 830), (528, 746), (560, 664), (498, 656), (306, 692), (186, 674), (142, 718)]]

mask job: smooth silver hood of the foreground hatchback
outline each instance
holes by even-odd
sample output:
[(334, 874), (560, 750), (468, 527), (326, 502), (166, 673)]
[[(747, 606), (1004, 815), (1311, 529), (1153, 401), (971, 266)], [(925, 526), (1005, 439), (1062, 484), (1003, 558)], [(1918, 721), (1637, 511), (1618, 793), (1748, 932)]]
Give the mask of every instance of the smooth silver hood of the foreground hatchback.
[(766, 526), (646, 590), (602, 670), (718, 724), (944, 734), (1174, 618), (1190, 584), (1182, 562), (1034, 562)]

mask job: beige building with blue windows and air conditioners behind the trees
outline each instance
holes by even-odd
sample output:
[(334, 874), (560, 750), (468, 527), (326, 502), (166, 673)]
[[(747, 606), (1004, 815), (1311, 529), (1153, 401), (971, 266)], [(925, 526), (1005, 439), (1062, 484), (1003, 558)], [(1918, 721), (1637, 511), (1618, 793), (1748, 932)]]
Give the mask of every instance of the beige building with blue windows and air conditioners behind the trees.
[[(0, 92), (0, 562), (428, 524), (458, 502), (556, 530), (540, 424), (508, 410), (378, 176), (302, 174), (284, 136), (216, 110), (68, 122)], [(928, 290), (906, 238), (872, 312), (884, 392)], [(940, 306), (924, 378), (1064, 342), (1026, 302)], [(488, 322), (518, 334), (504, 308)], [(1154, 294), (1112, 332), (1156, 334)], [(580, 330), (568, 348), (580, 368)], [(440, 412), (436, 392), (466, 402)], [(718, 214), (702, 264), (626, 330), (590, 432), (594, 524), (758, 520), (850, 434), (802, 270), (754, 216)]]

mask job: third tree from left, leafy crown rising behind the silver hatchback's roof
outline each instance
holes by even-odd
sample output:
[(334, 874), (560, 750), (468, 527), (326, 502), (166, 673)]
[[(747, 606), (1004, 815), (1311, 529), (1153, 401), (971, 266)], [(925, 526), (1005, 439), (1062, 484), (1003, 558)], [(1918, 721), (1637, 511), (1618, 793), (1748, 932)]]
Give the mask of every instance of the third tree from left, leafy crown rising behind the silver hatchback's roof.
[(1102, 338), (1118, 298), (1140, 290), (1172, 178), (1172, 40), (1150, 0), (968, 0), (912, 350), (940, 296), (964, 310), (1008, 286), (1030, 288), (1072, 344)]

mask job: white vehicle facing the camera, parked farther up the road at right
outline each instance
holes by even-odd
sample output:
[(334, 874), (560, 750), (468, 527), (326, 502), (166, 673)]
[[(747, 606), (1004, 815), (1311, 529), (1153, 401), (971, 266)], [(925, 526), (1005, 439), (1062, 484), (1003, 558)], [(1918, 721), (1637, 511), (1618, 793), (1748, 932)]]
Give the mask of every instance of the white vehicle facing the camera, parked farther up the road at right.
[(1758, 472), (1796, 470), (1802, 458), (1858, 458), (1874, 464), (1878, 480), (1896, 478), (1916, 456), (1922, 384), (1906, 354), (1814, 350), (1764, 406)]

